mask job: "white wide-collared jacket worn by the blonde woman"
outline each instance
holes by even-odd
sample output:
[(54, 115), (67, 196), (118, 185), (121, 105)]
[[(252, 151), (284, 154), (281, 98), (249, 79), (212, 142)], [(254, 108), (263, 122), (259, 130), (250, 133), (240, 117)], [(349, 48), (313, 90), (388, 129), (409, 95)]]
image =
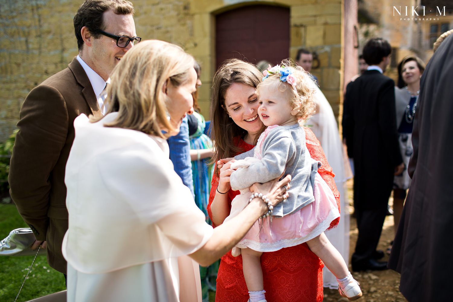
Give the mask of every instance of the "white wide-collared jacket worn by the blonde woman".
[[(95, 301), (96, 295), (104, 301), (120, 301), (132, 278), (143, 284), (141, 290), (134, 283), (128, 294), (141, 292), (134, 298), (178, 301), (170, 297), (178, 295), (174, 259), (200, 249), (211, 237), (212, 227), (173, 171), (167, 142), (140, 131), (104, 127), (116, 116), (111, 113), (90, 123), (80, 115), (74, 121), (76, 136), (65, 176), (69, 228), (63, 255), (68, 262), (68, 297), (77, 292), (73, 301)], [(143, 270), (143, 265), (151, 265), (150, 270)], [(127, 278), (118, 278), (122, 273)], [(96, 281), (99, 289), (82, 282), (93, 275), (96, 280), (90, 283)], [(164, 288), (156, 279), (165, 283)], [(108, 299), (102, 286), (106, 283)], [(156, 296), (156, 291), (164, 296)]]

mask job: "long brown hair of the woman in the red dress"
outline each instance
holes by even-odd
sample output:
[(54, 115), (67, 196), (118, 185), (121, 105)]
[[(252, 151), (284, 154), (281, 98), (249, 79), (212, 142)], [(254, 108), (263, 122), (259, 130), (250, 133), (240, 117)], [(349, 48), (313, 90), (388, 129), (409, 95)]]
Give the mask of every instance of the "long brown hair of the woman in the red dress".
[[(232, 143), (233, 138), (243, 138), (247, 131), (236, 125), (225, 109), (226, 90), (233, 84), (244, 84), (256, 88), (261, 82), (262, 74), (255, 65), (239, 59), (223, 62), (212, 81), (211, 125), (210, 131), (214, 143), (213, 161), (235, 156), (242, 150)], [(265, 126), (261, 131), (264, 131)], [(260, 134), (260, 133), (259, 133)], [(256, 139), (259, 137), (256, 136)], [(255, 139), (255, 140), (256, 140)], [(218, 173), (218, 171), (216, 171)]]

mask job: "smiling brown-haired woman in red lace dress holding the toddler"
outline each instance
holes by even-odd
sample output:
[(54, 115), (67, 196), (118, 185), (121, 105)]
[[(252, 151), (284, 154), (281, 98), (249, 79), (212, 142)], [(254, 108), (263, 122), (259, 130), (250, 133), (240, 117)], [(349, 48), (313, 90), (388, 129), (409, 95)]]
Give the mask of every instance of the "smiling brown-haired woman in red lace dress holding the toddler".
[[(214, 159), (231, 158), (253, 149), (264, 130), (258, 118), (259, 102), (255, 93), (262, 75), (255, 66), (232, 59), (219, 68), (213, 80), (211, 130)], [(320, 161), (318, 173), (333, 191), (339, 208), (339, 193), (323, 149), (313, 132), (305, 128), (306, 144), (312, 158)], [(230, 163), (215, 169), (207, 212), (214, 226), (230, 214), (231, 201), (239, 194), (229, 183)], [(333, 221), (330, 227), (338, 224)], [(323, 263), (306, 243), (263, 253), (261, 267), (266, 298), (272, 302), (323, 301)], [(246, 302), (249, 298), (242, 272), (242, 258), (231, 251), (222, 257), (217, 274), (216, 301)]]

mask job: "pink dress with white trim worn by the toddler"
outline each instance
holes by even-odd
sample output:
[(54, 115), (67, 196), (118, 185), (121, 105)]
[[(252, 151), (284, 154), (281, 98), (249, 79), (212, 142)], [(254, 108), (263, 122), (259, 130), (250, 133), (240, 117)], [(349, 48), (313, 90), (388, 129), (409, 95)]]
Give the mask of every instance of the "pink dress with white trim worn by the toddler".
[[(246, 167), (262, 158), (262, 145), (272, 128), (274, 126), (268, 127), (261, 134), (254, 157), (236, 161), (234, 163), (236, 167)], [(303, 148), (307, 147), (304, 145)], [(291, 190), (294, 188), (289, 190), (289, 194), (291, 194)], [(313, 195), (315, 199), (313, 202), (293, 214), (256, 221), (246, 236), (232, 249), (233, 256), (241, 254), (239, 248), (248, 247), (255, 251), (272, 252), (302, 244), (321, 235), (329, 228), (330, 223), (340, 216), (340, 213), (332, 190), (318, 173), (315, 176)], [(240, 213), (247, 206), (250, 196), (249, 189), (241, 190), (241, 194), (231, 202), (231, 212), (225, 221)]]

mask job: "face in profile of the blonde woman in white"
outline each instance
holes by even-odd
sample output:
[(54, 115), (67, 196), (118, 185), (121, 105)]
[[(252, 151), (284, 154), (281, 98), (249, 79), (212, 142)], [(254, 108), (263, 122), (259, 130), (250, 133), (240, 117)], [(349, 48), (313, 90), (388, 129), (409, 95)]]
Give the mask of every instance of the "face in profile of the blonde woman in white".
[[(179, 130), (179, 126), (183, 122), (186, 114), (193, 113), (193, 97), (192, 93), (196, 91), (197, 72), (195, 69), (189, 71), (189, 78), (179, 86), (173, 86), (168, 80), (166, 94), (169, 97), (167, 110), (170, 115), (170, 122)], [(175, 135), (175, 134), (173, 134)]]

